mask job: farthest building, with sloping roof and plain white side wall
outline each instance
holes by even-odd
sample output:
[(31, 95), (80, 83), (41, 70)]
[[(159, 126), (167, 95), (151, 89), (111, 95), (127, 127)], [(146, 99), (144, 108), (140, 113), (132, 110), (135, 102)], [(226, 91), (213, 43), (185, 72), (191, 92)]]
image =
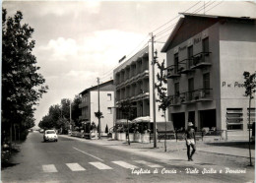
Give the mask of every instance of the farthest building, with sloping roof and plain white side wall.
[[(98, 124), (95, 112), (98, 111), (98, 91), (97, 86), (80, 92), (82, 102), (79, 107), (82, 115), (79, 117), (85, 122)], [(103, 118), (100, 119), (101, 132), (104, 133), (105, 127), (113, 127), (113, 106), (114, 106), (114, 86), (113, 80), (99, 84), (99, 108)]]

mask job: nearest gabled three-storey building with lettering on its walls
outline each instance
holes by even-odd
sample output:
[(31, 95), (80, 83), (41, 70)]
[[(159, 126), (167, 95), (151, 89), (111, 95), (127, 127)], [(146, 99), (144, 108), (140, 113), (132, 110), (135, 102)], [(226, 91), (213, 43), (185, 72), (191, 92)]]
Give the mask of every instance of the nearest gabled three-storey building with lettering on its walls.
[(225, 138), (247, 138), (248, 108), (243, 72), (255, 72), (256, 20), (183, 14), (166, 52), (169, 118), (175, 128), (188, 121), (198, 129), (223, 131)]

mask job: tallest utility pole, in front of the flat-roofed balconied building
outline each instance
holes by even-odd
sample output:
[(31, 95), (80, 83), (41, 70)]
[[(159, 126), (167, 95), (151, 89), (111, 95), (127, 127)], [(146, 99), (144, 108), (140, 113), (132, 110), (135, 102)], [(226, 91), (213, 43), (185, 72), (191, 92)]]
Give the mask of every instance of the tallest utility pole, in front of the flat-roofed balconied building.
[(153, 32), (151, 33), (152, 38), (152, 93), (153, 93), (153, 122), (154, 122), (154, 148), (157, 148), (157, 123), (156, 123), (156, 93), (155, 93), (155, 64), (156, 64), (156, 57), (154, 56), (154, 35)]

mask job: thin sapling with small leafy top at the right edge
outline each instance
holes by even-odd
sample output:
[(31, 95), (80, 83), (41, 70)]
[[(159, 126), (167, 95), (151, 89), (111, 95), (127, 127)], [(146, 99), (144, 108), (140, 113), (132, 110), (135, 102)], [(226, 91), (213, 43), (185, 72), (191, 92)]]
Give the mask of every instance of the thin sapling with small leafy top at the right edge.
[(250, 166), (252, 166), (251, 160), (251, 99), (253, 99), (253, 93), (255, 93), (256, 89), (256, 75), (255, 73), (250, 74), (249, 72), (245, 71), (243, 73), (244, 76), (244, 88), (245, 88), (245, 96), (249, 96), (249, 154), (250, 154)]

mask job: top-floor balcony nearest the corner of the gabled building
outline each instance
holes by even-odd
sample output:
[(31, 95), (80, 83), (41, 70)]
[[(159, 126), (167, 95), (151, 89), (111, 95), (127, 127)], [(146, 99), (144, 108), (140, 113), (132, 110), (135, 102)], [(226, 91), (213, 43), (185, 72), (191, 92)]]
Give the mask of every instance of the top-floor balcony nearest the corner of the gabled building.
[(210, 67), (210, 53), (211, 52), (201, 52), (193, 55), (191, 69), (202, 69), (205, 67)]

